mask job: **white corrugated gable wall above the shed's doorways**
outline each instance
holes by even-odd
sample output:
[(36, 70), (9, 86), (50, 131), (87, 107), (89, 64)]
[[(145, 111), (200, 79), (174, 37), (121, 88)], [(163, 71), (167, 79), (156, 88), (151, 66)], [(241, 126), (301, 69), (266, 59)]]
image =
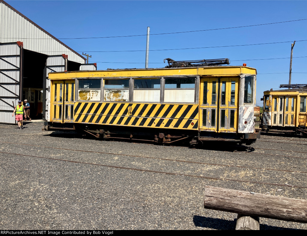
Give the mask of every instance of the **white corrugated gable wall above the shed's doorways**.
[(0, 42), (23, 42), (24, 49), (45, 55), (66, 54), (68, 59), (84, 63), (84, 58), (61, 44), (32, 22), (0, 2)]

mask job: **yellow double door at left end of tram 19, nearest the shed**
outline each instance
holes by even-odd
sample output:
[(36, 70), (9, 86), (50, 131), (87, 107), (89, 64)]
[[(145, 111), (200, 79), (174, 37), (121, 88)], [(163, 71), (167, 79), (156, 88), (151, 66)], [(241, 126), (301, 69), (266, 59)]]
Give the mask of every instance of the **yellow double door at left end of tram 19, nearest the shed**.
[(53, 81), (52, 97), (52, 121), (73, 122), (75, 80)]

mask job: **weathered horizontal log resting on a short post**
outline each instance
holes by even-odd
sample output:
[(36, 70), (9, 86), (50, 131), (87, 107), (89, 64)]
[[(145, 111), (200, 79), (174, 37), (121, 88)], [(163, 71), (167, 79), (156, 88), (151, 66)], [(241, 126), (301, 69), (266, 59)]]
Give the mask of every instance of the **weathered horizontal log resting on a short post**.
[(205, 186), (204, 208), (307, 223), (307, 200)]

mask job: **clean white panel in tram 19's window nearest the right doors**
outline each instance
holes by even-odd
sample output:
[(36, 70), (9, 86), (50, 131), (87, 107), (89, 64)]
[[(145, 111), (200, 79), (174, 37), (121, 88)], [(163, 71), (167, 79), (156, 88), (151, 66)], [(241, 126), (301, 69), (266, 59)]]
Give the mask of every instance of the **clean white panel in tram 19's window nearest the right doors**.
[(192, 89), (172, 89), (164, 90), (164, 101), (165, 102), (194, 102), (195, 90)]

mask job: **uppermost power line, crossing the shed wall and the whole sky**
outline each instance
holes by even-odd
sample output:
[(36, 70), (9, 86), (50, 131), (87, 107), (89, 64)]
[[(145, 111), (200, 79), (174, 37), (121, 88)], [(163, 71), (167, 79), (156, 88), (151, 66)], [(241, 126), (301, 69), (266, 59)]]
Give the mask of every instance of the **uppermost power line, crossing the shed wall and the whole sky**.
[[(305, 21), (307, 19), (299, 19), (299, 20), (292, 20), (292, 21), (280, 21), (280, 22), (273, 22), (273, 23), (265, 23), (265, 24), (258, 24), (258, 25), (244, 25), (244, 26), (234, 26), (234, 27), (226, 27), (226, 28), (218, 28), (218, 29), (202, 29), (202, 30), (192, 30), (192, 31), (182, 31), (182, 32), (171, 32), (171, 33), (159, 33), (159, 34), (150, 34), (150, 35), (165, 35), (165, 34), (180, 34), (180, 33), (191, 33), (191, 32), (203, 32), (203, 31), (212, 31), (212, 30), (221, 30), (221, 29), (237, 29), (237, 28), (244, 28), (244, 27), (252, 27), (252, 26), (261, 26), (261, 25), (273, 25), (273, 24), (280, 24), (280, 23), (287, 23), (287, 22), (294, 22), (294, 21)], [(105, 39), (105, 38), (122, 38), (122, 37), (136, 37), (136, 36), (147, 36), (146, 34), (140, 35), (126, 35), (126, 36), (106, 36), (106, 37), (81, 37), (81, 38), (58, 38), (58, 39)], [(37, 39), (37, 38), (2, 38), (2, 39)], [(38, 39), (46, 39), (46, 38), (38, 38)], [(47, 38), (53, 39), (53, 38)]]

